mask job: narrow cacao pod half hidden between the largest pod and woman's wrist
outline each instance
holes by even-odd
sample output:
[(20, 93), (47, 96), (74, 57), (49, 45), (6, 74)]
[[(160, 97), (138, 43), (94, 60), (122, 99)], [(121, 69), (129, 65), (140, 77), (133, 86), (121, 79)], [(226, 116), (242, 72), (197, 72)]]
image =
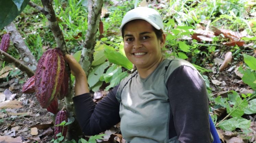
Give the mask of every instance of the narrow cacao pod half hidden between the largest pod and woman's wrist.
[(63, 82), (61, 84), (60, 92), (57, 95), (57, 98), (59, 100), (63, 99), (68, 94), (68, 92), (69, 92), (69, 74), (65, 70), (65, 72), (64, 72), (64, 79), (63, 79)]

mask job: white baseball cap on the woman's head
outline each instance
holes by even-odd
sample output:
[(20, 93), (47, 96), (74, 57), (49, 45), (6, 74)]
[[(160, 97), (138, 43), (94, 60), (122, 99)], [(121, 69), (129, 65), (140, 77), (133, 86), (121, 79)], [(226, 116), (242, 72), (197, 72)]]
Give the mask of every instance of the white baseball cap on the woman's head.
[(163, 30), (163, 21), (160, 14), (156, 10), (151, 9), (149, 7), (136, 7), (135, 9), (128, 11), (123, 17), (120, 30), (122, 30), (123, 26), (127, 22), (135, 19), (146, 20), (148, 23), (154, 26), (157, 30), (160, 30), (160, 29)]

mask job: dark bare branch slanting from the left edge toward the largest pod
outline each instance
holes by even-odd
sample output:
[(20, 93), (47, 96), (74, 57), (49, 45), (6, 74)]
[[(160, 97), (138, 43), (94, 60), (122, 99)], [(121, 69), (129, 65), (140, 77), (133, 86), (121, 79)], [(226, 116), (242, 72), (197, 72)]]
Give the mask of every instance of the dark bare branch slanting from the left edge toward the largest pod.
[(14, 63), (14, 65), (19, 68), (22, 72), (25, 72), (29, 77), (32, 77), (35, 75), (35, 73), (29, 69), (26, 65), (22, 64), (20, 61), (13, 58), (8, 53), (4, 52), (3, 50), (0, 50), (0, 59), (4, 60), (8, 63)]

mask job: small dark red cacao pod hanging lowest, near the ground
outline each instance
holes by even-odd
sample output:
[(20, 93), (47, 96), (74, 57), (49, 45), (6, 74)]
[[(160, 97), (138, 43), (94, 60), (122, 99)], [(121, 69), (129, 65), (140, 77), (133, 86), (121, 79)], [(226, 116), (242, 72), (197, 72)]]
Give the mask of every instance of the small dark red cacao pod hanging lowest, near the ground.
[[(56, 115), (55, 118), (55, 125), (60, 124), (62, 121), (66, 121), (68, 122), (68, 116), (66, 114), (66, 111), (59, 111)], [(56, 139), (56, 135), (60, 132), (62, 132), (63, 126), (55, 126), (54, 127), (54, 138)], [(68, 131), (68, 127), (64, 126), (63, 132), (62, 132), (62, 136), (65, 138), (66, 137), (66, 133)]]

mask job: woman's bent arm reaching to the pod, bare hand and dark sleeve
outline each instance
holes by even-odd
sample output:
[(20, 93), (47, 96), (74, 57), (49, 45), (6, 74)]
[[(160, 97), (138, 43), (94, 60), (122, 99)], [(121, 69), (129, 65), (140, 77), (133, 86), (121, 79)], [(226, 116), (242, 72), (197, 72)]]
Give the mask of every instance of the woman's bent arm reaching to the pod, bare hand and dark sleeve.
[(65, 55), (65, 60), (69, 63), (71, 73), (75, 76), (73, 102), (76, 118), (84, 134), (88, 136), (99, 134), (120, 122), (120, 104), (115, 98), (119, 85), (95, 106), (92, 94), (89, 93), (84, 70), (72, 55)]

